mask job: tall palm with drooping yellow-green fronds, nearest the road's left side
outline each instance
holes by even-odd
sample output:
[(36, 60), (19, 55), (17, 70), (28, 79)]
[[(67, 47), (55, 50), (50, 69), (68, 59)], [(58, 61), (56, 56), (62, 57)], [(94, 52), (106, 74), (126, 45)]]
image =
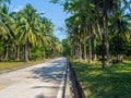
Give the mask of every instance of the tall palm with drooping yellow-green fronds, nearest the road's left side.
[(25, 62), (28, 62), (29, 47), (37, 46), (38, 29), (36, 10), (31, 4), (27, 4), (24, 10), (19, 12), (20, 23), (16, 25), (19, 40), (25, 46)]

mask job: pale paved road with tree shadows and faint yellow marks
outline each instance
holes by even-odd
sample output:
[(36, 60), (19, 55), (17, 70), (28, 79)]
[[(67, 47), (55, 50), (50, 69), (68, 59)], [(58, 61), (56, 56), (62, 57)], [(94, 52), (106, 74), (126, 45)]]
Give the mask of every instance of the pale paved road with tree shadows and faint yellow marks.
[(0, 98), (57, 98), (66, 58), (0, 75)]

